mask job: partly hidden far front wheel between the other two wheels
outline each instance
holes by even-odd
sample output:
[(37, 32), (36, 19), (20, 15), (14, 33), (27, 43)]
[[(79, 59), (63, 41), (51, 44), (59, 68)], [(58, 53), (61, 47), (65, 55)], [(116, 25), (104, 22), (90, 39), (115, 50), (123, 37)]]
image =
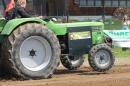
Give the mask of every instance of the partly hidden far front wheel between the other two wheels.
[(84, 62), (84, 56), (62, 56), (61, 63), (69, 70), (78, 69)]

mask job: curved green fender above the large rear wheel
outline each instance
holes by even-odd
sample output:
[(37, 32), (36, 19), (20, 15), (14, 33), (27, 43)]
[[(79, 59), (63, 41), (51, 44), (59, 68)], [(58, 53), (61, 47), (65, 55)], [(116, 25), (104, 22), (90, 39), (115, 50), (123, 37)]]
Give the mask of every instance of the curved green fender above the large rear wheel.
[(19, 18), (19, 19), (12, 19), (7, 22), (5, 27), (3, 28), (3, 31), (1, 32), (1, 35), (9, 35), (17, 26), (26, 23), (26, 22), (37, 22), (46, 24), (45, 21), (39, 19), (39, 18)]

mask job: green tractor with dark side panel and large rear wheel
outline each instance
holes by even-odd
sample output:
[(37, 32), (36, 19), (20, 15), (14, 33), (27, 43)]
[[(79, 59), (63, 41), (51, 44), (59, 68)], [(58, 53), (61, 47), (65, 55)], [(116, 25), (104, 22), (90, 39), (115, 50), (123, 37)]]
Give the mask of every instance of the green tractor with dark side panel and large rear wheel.
[(60, 61), (65, 68), (75, 70), (88, 54), (95, 71), (107, 71), (115, 56), (103, 42), (103, 29), (101, 22), (55, 24), (49, 19), (6, 16), (0, 19), (2, 69), (16, 78), (49, 78)]

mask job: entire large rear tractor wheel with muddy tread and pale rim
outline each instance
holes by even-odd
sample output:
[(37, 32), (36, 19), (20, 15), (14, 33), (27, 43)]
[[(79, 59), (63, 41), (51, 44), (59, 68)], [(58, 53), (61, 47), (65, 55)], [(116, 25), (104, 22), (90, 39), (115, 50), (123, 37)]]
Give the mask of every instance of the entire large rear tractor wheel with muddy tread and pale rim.
[(16, 28), (2, 46), (2, 66), (23, 79), (49, 78), (60, 62), (60, 45), (55, 34), (37, 23)]

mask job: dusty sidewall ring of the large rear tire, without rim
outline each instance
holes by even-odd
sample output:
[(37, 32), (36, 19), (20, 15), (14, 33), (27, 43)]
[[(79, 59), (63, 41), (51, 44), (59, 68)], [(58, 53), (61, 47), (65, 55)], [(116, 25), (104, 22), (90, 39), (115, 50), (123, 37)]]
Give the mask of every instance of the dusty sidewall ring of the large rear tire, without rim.
[[(30, 32), (31, 30), (31, 32)], [(52, 74), (52, 70), (55, 68), (55, 66), (57, 66), (57, 57), (56, 55), (54, 55), (54, 52), (55, 52), (55, 45), (54, 45), (54, 40), (51, 40), (47, 35), (48, 34), (43, 34), (42, 32), (43, 31), (46, 31), (47, 29), (44, 29), (43, 28), (31, 28), (31, 29), (26, 29), (24, 30), (23, 32), (20, 33), (19, 37), (17, 37), (17, 39), (15, 40), (15, 43), (13, 45), (13, 56), (14, 56), (14, 59), (13, 61), (15, 62), (15, 66), (16, 68), (19, 70), (19, 72), (21, 74), (23, 74), (24, 76), (28, 77), (28, 78), (47, 78), (49, 76), (49, 74)], [(26, 35), (25, 35), (26, 34)], [(49, 34), (50, 35), (50, 34)], [(22, 43), (28, 38), (28, 37), (31, 37), (31, 36), (40, 36), (40, 37), (43, 37), (45, 38), (48, 43), (50, 44), (51, 48), (52, 48), (52, 57), (51, 57), (51, 60), (49, 62), (49, 64), (42, 70), (39, 70), (39, 71), (31, 71), (31, 70), (28, 70), (21, 62), (21, 59), (20, 59), (20, 55), (19, 55), (19, 52), (20, 52), (20, 47), (22, 45)], [(53, 37), (53, 35), (51, 36)], [(51, 73), (50, 73), (51, 72)]]

